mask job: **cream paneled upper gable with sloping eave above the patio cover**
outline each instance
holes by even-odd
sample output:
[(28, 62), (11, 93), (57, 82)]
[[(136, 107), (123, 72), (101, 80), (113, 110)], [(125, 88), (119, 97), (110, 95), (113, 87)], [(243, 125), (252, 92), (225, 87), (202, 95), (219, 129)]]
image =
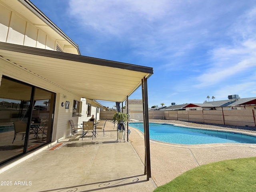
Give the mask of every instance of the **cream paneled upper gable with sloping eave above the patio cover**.
[(78, 46), (29, 1), (0, 0), (0, 41), (80, 54)]

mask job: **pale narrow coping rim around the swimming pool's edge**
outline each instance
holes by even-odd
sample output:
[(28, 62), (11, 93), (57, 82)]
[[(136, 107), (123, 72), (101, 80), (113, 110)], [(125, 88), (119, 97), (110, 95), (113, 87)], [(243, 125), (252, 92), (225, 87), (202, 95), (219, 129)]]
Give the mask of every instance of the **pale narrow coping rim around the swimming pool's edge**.
[[(133, 123), (141, 123), (141, 122), (133, 122)], [(256, 137), (256, 133), (252, 132), (243, 132), (243, 131), (237, 131), (237, 130), (226, 130), (226, 129), (214, 129), (214, 128), (201, 128), (201, 127), (193, 127), (193, 126), (186, 126), (183, 124), (176, 124), (176, 123), (168, 123), (168, 122), (151, 122), (151, 123), (158, 123), (158, 124), (171, 124), (174, 126), (181, 126), (186, 128), (194, 128), (194, 129), (202, 129), (202, 130), (214, 130), (219, 132), (234, 132), (238, 134), (244, 134), (248, 136), (254, 136)], [(129, 128), (132, 128), (136, 132), (138, 132), (139, 136), (144, 138), (143, 132), (138, 130), (137, 128), (134, 128), (132, 126), (129, 126)], [(169, 142), (162, 142), (158, 140), (150, 139), (150, 142), (165, 145), (165, 146), (172, 146), (172, 147), (179, 147), (179, 148), (214, 148), (214, 147), (227, 147), (227, 146), (240, 146), (240, 147), (253, 147), (256, 148), (256, 144), (249, 144), (249, 143), (210, 143), (210, 144), (175, 144), (175, 143), (169, 143)]]

